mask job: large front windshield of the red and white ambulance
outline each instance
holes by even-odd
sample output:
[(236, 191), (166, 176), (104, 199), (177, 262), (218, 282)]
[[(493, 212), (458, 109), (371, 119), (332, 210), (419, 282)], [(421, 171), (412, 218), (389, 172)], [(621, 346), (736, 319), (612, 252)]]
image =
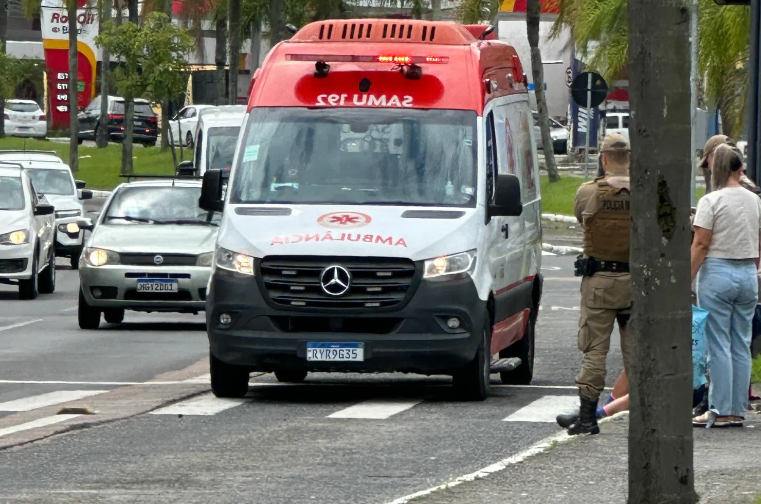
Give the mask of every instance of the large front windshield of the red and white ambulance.
[(231, 203), (475, 206), (470, 110), (255, 108)]

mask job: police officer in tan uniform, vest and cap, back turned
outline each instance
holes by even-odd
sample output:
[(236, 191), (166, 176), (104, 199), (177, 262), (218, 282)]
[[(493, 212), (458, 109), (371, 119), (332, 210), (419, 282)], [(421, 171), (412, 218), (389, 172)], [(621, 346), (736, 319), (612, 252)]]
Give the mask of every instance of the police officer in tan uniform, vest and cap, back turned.
[(584, 228), (584, 254), (576, 262), (581, 279), (578, 349), (584, 352), (576, 378), (581, 407), (578, 415), (560, 415), (568, 434), (597, 434), (597, 400), (605, 385), (605, 360), (617, 321), (624, 368), (632, 352), (627, 324), (632, 308), (629, 274), (629, 142), (618, 133), (600, 146), (605, 174), (578, 188), (575, 215)]

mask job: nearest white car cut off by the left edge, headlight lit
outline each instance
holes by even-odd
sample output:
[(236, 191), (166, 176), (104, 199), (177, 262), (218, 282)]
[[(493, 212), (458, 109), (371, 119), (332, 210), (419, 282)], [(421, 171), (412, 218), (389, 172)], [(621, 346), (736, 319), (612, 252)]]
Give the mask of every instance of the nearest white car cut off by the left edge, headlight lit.
[(0, 283), (18, 285), (21, 299), (56, 289), (54, 211), (24, 168), (0, 162)]

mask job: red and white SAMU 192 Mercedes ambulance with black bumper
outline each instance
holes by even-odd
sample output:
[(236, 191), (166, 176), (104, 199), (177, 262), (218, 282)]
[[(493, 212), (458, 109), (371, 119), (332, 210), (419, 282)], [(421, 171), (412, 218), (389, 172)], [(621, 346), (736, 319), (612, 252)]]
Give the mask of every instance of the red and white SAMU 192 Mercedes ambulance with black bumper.
[(533, 116), (489, 31), (320, 21), (272, 48), (229, 180), (203, 177), (201, 207), (224, 209), (206, 298), (218, 397), (244, 396), (250, 372), (451, 375), (463, 400), (495, 369), (530, 383)]

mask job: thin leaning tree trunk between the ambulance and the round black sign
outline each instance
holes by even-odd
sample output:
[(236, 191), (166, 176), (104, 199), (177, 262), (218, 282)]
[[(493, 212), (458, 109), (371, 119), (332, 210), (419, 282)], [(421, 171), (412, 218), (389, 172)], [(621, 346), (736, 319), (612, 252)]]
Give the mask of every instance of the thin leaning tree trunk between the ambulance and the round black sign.
[(539, 112), (539, 128), (542, 132), (544, 164), (550, 182), (560, 180), (558, 166), (555, 163), (555, 151), (552, 148), (552, 137), (549, 136), (549, 117), (547, 117), (547, 100), (544, 96), (544, 68), (542, 53), (539, 50), (539, 19), (542, 5), (539, 0), (528, 0), (526, 3), (526, 30), (528, 45), (531, 48), (531, 75), (533, 75), (534, 95), (537, 97)]

